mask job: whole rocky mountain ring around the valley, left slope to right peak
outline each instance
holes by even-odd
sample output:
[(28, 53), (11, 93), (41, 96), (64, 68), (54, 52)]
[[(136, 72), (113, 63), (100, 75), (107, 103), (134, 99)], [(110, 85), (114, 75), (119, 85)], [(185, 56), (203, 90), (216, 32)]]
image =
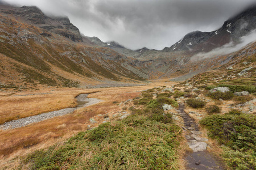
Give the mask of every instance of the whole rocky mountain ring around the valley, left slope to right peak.
[(222, 65), (228, 56), (195, 57), (256, 28), (255, 6), (217, 31), (188, 33), (163, 50), (130, 50), (118, 42), (87, 37), (69, 19), (37, 7), (0, 6), (1, 88), (90, 87), (145, 79), (191, 77)]

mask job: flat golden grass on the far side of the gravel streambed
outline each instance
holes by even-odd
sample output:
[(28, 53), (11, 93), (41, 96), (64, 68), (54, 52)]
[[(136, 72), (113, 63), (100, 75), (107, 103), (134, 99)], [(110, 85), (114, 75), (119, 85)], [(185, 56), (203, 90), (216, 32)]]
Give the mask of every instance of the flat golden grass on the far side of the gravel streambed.
[[(88, 92), (94, 91), (90, 90)], [(74, 108), (77, 105), (75, 96), (79, 95), (80, 91), (61, 90), (48, 93), (46, 95), (20, 93), (11, 96), (0, 96), (0, 124), (63, 108)], [(34, 92), (32, 94), (40, 94), (40, 92)]]

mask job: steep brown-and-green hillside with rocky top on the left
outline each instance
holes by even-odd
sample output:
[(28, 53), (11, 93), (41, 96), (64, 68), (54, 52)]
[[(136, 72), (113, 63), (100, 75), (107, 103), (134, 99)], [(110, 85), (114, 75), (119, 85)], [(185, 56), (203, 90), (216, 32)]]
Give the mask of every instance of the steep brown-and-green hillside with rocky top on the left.
[(68, 18), (50, 18), (36, 7), (0, 7), (1, 87), (86, 87), (147, 78), (127, 57), (95, 46)]

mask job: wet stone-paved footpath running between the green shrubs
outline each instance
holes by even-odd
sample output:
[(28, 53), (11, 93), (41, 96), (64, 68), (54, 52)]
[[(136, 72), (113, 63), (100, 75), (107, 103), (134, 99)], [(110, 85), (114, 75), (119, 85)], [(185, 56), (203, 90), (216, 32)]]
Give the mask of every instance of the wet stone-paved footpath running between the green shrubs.
[(187, 152), (185, 160), (187, 161), (187, 169), (224, 169), (220, 162), (213, 158), (207, 152), (207, 138), (202, 138), (199, 126), (193, 118), (184, 112), (185, 105), (179, 105), (180, 115), (184, 120), (185, 138), (187, 145), (193, 152)]

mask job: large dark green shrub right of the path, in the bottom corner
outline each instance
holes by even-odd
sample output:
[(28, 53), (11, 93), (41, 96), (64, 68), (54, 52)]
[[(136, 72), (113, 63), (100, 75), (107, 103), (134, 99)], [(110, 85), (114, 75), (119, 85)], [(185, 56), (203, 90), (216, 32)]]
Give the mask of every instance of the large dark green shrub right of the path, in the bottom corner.
[(256, 116), (232, 110), (213, 114), (200, 121), (209, 137), (225, 145), (222, 156), (231, 169), (256, 167)]

